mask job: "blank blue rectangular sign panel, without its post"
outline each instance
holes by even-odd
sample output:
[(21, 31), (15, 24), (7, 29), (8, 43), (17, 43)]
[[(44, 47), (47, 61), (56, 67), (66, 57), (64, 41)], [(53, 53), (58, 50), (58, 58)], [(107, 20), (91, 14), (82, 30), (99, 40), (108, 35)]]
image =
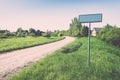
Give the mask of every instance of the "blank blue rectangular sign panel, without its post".
[(102, 22), (102, 14), (79, 15), (79, 22), (80, 23)]

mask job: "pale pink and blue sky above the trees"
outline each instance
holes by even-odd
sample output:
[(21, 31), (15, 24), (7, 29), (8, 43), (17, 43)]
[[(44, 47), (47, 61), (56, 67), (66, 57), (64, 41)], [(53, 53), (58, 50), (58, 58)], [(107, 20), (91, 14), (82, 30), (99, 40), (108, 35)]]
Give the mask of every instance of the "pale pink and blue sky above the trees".
[(74, 17), (96, 13), (103, 20), (92, 28), (120, 26), (120, 0), (0, 0), (0, 29), (67, 30)]

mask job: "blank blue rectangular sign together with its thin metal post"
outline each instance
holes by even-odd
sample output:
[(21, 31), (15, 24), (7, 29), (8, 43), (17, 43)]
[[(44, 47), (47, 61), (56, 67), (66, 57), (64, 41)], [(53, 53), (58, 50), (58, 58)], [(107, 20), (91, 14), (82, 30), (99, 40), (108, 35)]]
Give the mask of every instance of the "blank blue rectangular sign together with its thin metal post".
[(90, 66), (90, 30), (91, 23), (102, 22), (102, 14), (79, 15), (80, 23), (89, 23), (88, 27), (88, 66)]

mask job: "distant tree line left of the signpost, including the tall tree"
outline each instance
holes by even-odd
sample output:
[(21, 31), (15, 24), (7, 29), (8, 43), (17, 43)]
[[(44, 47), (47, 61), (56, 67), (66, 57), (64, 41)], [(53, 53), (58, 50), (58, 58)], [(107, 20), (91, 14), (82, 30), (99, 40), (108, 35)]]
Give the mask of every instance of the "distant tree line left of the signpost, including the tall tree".
[(9, 30), (0, 30), (0, 38), (8, 38), (8, 37), (26, 37), (26, 36), (73, 36), (73, 37), (81, 37), (88, 35), (88, 27), (82, 26), (78, 18), (74, 18), (69, 25), (68, 30), (55, 30), (55, 31), (47, 31), (43, 32), (40, 30), (35, 30), (34, 28), (30, 28), (29, 30), (23, 30), (22, 28), (18, 28), (15, 32), (10, 32)]

